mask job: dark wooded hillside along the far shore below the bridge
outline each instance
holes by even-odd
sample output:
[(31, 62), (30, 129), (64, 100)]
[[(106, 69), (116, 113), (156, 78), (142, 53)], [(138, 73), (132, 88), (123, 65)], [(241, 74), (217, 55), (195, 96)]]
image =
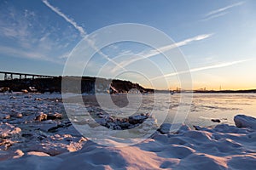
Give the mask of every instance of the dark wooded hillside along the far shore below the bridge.
[(110, 80), (96, 77), (54, 77), (35, 79), (14, 79), (0, 81), (0, 88), (9, 88), (9, 91), (30, 91), (31, 87), (38, 92), (68, 92), (68, 93), (128, 93), (137, 89), (141, 93), (154, 93), (153, 89), (143, 88), (137, 83), (123, 80)]

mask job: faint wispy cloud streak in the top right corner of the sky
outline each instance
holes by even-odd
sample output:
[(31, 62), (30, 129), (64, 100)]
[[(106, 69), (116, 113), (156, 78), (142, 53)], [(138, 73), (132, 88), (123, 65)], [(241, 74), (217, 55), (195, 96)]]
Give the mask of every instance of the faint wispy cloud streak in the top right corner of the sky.
[(233, 3), (231, 5), (228, 5), (228, 6), (224, 7), (224, 8), (218, 8), (218, 9), (212, 10), (212, 11), (210, 11), (209, 13), (207, 13), (205, 15), (205, 18), (203, 19), (203, 21), (212, 20), (214, 18), (217, 18), (217, 17), (223, 16), (225, 14), (228, 14), (229, 13), (227, 11), (228, 9), (234, 8), (236, 6), (240, 6), (243, 3), (245, 3), (245, 2)]

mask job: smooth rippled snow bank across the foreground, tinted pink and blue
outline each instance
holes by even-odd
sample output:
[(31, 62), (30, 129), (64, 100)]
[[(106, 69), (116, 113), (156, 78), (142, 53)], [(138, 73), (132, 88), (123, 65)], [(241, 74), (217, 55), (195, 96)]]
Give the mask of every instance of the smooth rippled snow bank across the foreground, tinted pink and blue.
[(247, 120), (250, 123), (246, 126), (250, 128), (218, 125), (192, 130), (183, 126), (178, 133), (156, 132), (140, 144), (125, 147), (107, 147), (87, 141), (81, 150), (58, 156), (28, 152), (1, 161), (0, 169), (253, 170), (256, 165), (256, 131), (251, 125), (255, 120), (248, 116), (236, 116), (235, 119), (240, 122)]

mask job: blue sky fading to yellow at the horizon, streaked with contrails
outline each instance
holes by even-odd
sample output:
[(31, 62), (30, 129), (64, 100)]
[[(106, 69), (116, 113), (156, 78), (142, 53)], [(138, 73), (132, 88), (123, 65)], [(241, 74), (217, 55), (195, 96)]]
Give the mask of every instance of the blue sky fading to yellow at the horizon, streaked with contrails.
[[(146, 88), (190, 88), (180, 78), (187, 73), (193, 89), (256, 88), (255, 8), (253, 0), (3, 0), (0, 71), (62, 75), (73, 50), (86, 40), (98, 52), (86, 64), (73, 63), (74, 76), (82, 65), (84, 76), (115, 77)], [(176, 50), (173, 59), (185, 59), (188, 69), (177, 71), (154, 47), (139, 42), (97, 47), (101, 38), (90, 35), (122, 23), (166, 34), (173, 42), (157, 48)]]

